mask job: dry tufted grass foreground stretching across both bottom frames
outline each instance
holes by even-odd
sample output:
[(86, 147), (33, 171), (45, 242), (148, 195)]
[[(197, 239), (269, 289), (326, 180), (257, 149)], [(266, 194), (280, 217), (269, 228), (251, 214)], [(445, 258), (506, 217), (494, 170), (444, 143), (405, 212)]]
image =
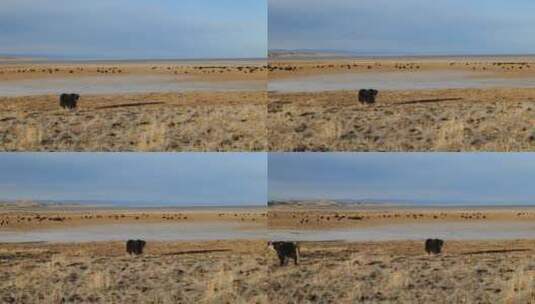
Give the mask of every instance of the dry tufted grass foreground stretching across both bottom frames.
[(533, 303), (535, 241), (301, 243), (278, 266), (262, 241), (0, 244), (4, 303)]

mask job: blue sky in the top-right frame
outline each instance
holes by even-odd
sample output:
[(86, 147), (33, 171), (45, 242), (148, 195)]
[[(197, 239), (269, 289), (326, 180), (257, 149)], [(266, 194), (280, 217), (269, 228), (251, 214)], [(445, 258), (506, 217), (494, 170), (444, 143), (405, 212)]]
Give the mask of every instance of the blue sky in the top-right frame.
[(531, 0), (268, 0), (270, 49), (535, 53)]

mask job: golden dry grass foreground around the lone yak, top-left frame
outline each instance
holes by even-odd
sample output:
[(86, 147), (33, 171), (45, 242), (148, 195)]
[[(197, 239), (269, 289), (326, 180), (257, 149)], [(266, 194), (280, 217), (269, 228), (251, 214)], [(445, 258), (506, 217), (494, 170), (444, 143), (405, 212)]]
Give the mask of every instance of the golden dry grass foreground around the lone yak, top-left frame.
[(262, 151), (266, 93), (0, 97), (3, 151)]

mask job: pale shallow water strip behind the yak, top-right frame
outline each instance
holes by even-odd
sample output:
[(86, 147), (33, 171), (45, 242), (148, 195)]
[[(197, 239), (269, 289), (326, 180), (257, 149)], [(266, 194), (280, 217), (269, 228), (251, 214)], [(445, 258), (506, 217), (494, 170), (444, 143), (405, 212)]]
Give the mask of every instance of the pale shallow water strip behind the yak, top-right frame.
[(268, 90), (282, 93), (335, 90), (424, 90), (535, 87), (533, 77), (504, 78), (463, 71), (365, 72), (298, 76), (270, 80)]

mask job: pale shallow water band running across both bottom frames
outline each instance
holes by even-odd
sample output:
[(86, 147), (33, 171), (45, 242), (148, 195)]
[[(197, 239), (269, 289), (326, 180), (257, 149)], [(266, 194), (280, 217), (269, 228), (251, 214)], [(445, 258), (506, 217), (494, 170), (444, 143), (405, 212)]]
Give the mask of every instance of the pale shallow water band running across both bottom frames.
[(89, 242), (142, 238), (153, 241), (301, 240), (386, 241), (533, 239), (533, 221), (480, 221), (386, 224), (326, 230), (268, 229), (261, 224), (230, 222), (105, 224), (35, 231), (0, 231), (1, 242)]

